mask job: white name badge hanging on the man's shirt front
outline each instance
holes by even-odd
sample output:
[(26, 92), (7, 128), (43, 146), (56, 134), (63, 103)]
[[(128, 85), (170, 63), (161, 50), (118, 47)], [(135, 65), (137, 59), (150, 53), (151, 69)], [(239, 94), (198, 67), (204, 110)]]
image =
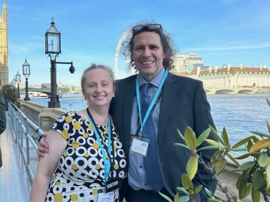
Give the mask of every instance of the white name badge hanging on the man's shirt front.
[(149, 139), (132, 136), (131, 141), (132, 143), (131, 146), (129, 147), (130, 150), (129, 152), (146, 157)]

